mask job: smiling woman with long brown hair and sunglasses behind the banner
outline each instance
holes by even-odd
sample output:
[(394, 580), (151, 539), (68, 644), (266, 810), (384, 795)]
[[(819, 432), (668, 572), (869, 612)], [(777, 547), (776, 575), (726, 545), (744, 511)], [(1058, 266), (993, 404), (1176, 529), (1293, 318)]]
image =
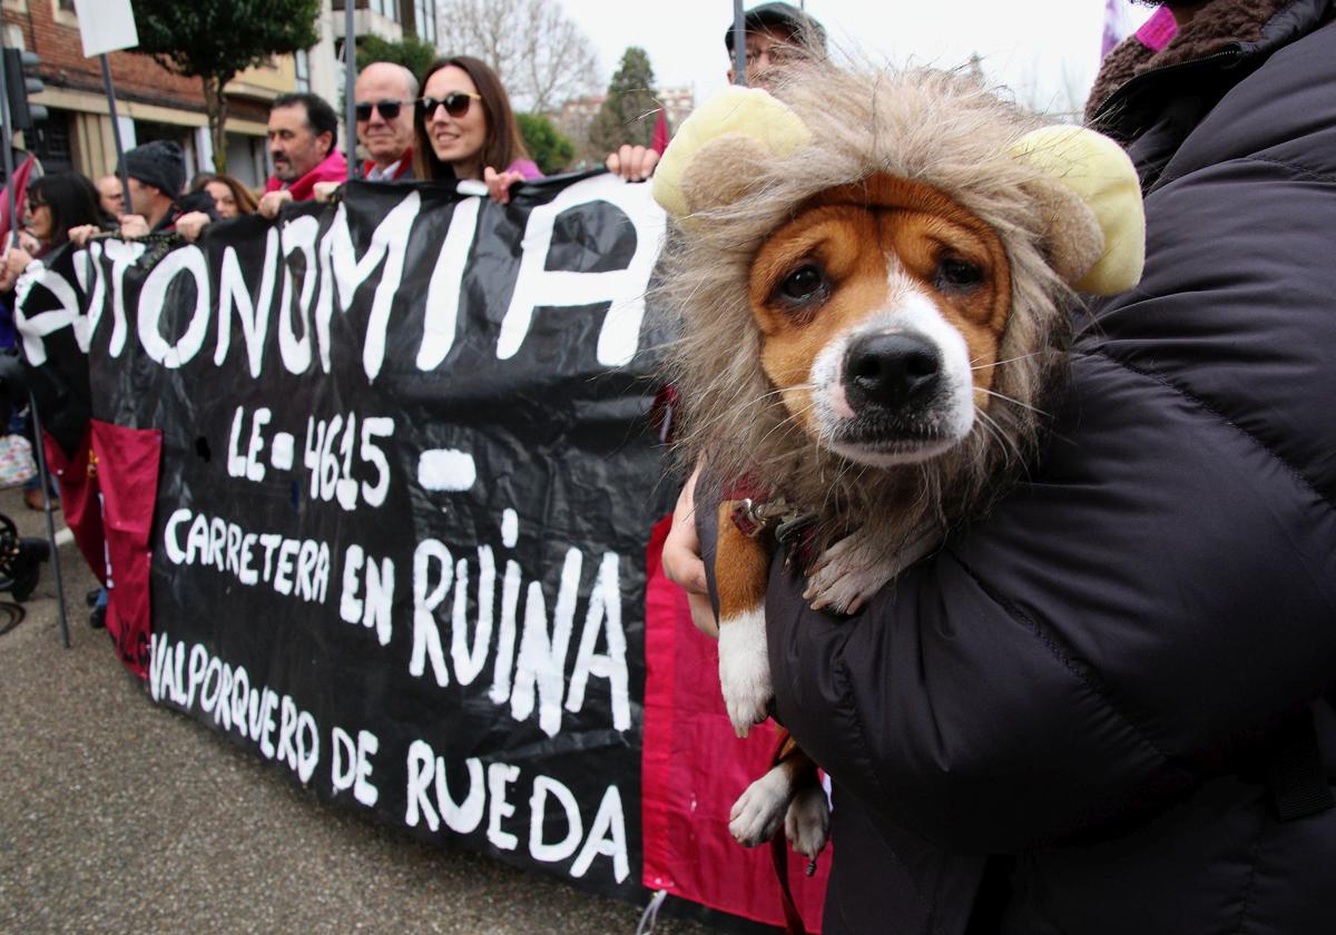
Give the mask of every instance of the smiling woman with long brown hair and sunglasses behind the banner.
[(510, 186), (542, 178), (524, 148), (510, 98), (484, 61), (436, 61), (422, 79), (415, 172), (420, 179), (477, 179), (501, 204)]

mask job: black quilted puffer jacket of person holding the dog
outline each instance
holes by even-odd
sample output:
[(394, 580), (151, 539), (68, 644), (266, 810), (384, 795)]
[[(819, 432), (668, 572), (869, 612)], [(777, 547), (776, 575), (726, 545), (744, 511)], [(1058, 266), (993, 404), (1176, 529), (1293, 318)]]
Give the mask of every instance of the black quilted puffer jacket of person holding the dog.
[(1110, 99), (1146, 274), (1027, 482), (848, 621), (776, 558), (831, 935), (1336, 932), (1333, 5)]

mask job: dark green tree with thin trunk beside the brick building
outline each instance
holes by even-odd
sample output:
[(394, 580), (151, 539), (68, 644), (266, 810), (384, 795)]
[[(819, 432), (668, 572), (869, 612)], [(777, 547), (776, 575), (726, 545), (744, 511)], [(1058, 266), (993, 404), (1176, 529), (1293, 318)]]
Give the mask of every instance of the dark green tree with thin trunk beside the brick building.
[(227, 95), (236, 72), (319, 41), (321, 0), (132, 0), (139, 48), (204, 87), (214, 166), (227, 171)]

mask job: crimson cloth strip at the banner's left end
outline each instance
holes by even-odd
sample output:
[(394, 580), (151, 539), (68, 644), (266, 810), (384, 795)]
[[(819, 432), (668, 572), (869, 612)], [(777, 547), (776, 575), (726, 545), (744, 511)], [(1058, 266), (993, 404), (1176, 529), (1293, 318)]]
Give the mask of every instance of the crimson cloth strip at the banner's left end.
[(131, 672), (148, 677), (148, 578), (163, 433), (90, 421), (67, 458), (45, 435), (47, 463), (60, 481), (65, 522), (88, 566), (107, 586), (107, 633)]

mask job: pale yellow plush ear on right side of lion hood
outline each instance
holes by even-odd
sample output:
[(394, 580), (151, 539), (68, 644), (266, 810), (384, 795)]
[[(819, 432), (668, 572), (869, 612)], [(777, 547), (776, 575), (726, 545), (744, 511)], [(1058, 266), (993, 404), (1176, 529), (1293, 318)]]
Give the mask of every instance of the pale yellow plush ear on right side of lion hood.
[(1043, 176), (1053, 268), (1078, 293), (1114, 295), (1141, 280), (1146, 215), (1137, 171), (1117, 143), (1083, 127), (1043, 127), (1011, 155)]

